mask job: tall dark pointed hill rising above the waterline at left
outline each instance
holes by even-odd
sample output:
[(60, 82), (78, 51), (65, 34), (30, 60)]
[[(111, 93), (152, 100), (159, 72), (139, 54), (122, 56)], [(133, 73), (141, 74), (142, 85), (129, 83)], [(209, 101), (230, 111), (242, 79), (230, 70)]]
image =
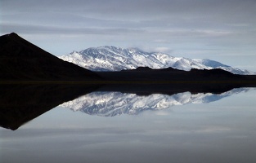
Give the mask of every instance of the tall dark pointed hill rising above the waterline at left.
[(19, 37), (0, 37), (1, 81), (95, 81), (96, 73), (70, 64)]

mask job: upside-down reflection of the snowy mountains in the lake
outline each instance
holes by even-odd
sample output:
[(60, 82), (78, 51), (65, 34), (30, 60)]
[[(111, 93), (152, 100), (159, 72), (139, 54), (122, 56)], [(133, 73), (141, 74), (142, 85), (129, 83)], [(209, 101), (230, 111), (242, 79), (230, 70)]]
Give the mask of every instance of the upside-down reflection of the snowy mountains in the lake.
[(175, 105), (210, 103), (250, 89), (236, 88), (218, 95), (212, 93), (193, 95), (191, 92), (184, 92), (175, 95), (153, 94), (147, 96), (98, 91), (61, 104), (61, 107), (101, 117), (114, 117), (121, 114), (137, 115), (146, 110), (163, 110)]

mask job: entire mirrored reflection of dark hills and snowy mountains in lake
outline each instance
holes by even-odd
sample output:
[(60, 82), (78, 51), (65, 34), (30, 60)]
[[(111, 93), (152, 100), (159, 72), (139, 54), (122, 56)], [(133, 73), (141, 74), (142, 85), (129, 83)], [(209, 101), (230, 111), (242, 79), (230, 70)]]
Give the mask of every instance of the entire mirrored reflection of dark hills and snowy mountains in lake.
[(249, 90), (249, 88), (233, 88), (236, 86), (2, 85), (0, 87), (0, 126), (16, 130), (60, 104), (90, 115), (111, 117), (120, 114), (136, 115), (146, 110), (160, 110), (173, 105), (209, 103)]

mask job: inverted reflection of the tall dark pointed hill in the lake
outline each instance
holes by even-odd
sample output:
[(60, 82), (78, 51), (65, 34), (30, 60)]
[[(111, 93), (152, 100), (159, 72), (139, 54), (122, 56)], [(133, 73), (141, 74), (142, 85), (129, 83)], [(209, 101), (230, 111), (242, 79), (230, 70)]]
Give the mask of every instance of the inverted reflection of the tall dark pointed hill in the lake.
[(1, 85), (0, 126), (16, 130), (65, 101), (96, 90), (96, 85)]

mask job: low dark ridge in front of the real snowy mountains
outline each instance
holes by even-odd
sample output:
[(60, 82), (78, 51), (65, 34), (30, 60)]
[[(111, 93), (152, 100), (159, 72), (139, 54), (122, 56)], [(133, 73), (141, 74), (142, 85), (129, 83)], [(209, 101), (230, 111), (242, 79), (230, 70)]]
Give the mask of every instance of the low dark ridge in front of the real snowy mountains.
[(255, 84), (256, 76), (236, 75), (222, 69), (200, 70), (191, 69), (191, 71), (182, 71), (174, 68), (151, 69), (136, 68), (123, 70), (120, 72), (97, 72), (101, 77), (113, 82), (193, 82), (193, 83), (246, 83)]

